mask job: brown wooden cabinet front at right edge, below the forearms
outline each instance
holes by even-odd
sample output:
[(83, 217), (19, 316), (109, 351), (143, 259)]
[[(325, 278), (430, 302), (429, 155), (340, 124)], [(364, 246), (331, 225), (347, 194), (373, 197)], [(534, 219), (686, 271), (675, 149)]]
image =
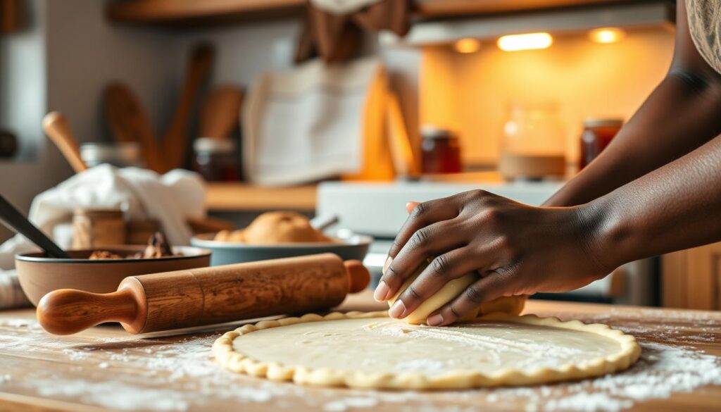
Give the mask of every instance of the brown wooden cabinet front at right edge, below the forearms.
[(665, 307), (721, 310), (721, 242), (662, 258)]

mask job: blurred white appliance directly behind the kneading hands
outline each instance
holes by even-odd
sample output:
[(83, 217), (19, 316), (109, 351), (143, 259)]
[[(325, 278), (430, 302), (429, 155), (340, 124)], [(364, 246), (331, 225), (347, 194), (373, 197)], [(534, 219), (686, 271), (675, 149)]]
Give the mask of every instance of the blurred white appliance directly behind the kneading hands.
[[(538, 206), (563, 184), (559, 182), (515, 183), (341, 183), (319, 185), (317, 216), (338, 216), (340, 227), (371, 235), (376, 240), (364, 260), (376, 284), (386, 255), (407, 219), (405, 203), (428, 201), (482, 189), (528, 205)], [(654, 304), (655, 263), (651, 259), (628, 263), (611, 276), (565, 294), (544, 295), (554, 299), (588, 300), (620, 304)]]

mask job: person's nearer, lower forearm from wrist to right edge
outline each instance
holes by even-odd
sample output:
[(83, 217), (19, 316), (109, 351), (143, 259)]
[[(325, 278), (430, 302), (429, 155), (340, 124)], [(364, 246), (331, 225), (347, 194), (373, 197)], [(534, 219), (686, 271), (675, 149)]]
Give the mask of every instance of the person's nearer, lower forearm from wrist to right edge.
[(580, 206), (608, 268), (721, 240), (721, 136)]

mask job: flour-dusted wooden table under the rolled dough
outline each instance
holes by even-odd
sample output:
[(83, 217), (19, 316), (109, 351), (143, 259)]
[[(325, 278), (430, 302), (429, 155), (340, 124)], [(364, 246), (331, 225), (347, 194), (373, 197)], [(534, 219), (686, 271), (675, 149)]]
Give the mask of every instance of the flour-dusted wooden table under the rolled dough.
[[(383, 307), (363, 293), (350, 297), (342, 309)], [(621, 328), (638, 338), (642, 359), (613, 377), (538, 387), (433, 393), (299, 387), (219, 369), (209, 351), (219, 331), (138, 338), (108, 325), (76, 336), (54, 337), (40, 329), (32, 310), (16, 310), (0, 312), (0, 411), (578, 411), (596, 406), (611, 411), (686, 412), (721, 408), (719, 312), (544, 301), (528, 302), (526, 312)], [(715, 385), (702, 385), (709, 382)], [(629, 399), (629, 394), (641, 400)], [(670, 398), (658, 398), (663, 396)]]

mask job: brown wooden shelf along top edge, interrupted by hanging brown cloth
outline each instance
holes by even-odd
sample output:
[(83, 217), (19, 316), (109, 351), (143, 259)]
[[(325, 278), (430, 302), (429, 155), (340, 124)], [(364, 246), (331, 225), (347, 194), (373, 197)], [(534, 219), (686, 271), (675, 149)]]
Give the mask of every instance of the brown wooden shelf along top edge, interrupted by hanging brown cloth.
[[(639, 0), (415, 0), (420, 18), (495, 14)], [(258, 18), (299, 16), (305, 0), (124, 0), (107, 6), (112, 22), (197, 26)]]

